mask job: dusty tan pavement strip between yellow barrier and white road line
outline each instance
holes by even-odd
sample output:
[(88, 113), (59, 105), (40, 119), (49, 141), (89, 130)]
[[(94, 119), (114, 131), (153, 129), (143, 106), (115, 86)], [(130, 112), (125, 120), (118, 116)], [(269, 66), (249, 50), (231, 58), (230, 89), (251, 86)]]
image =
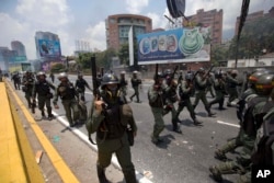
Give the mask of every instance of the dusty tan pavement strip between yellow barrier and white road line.
[[(10, 84), (10, 82), (8, 82)], [(8, 92), (9, 95), (11, 91)], [(20, 96), (21, 101), (25, 103), (24, 94), (22, 91), (15, 91)], [(48, 152), (43, 148), (41, 141), (37, 139), (36, 135), (31, 128), (30, 122), (27, 122), (25, 114), (21, 110), (13, 95), (11, 95), (12, 103), (18, 108), (18, 113), (21, 117), (22, 124), (24, 126), (25, 133), (27, 135), (28, 141), (33, 149), (33, 157), (35, 157), (38, 150), (43, 150), (43, 156), (41, 158), (39, 167), (45, 178), (45, 182), (48, 183), (62, 183), (60, 175), (54, 168), (52, 161), (49, 160)], [(30, 113), (30, 110), (28, 110)], [(47, 139), (52, 142), (55, 149), (59, 152), (62, 159), (66, 161), (72, 173), (77, 176), (79, 182), (98, 182), (96, 176), (96, 152), (93, 151), (89, 146), (87, 146), (82, 140), (76, 138), (77, 136), (71, 131), (70, 128), (61, 125), (57, 119), (44, 121), (39, 115), (38, 110), (33, 115), (36, 125), (43, 130)], [(123, 183), (123, 173), (111, 164), (106, 169), (106, 176), (113, 183)]]

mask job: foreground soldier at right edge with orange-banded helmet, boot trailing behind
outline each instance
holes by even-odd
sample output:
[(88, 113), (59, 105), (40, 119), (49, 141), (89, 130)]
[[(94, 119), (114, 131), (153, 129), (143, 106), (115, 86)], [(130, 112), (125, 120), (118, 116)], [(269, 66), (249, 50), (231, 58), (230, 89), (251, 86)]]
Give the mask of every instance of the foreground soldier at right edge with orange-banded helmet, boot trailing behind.
[[(272, 91), (273, 75), (263, 75), (256, 82), (255, 92), (258, 96), (248, 102), (247, 112), (242, 123), (242, 149), (240, 156), (235, 161), (212, 165), (209, 171), (215, 181), (222, 181), (221, 174), (246, 173), (250, 171), (251, 155), (254, 148), (256, 130), (262, 124), (262, 116), (265, 115), (264, 106)], [(266, 87), (267, 85), (267, 87)]]

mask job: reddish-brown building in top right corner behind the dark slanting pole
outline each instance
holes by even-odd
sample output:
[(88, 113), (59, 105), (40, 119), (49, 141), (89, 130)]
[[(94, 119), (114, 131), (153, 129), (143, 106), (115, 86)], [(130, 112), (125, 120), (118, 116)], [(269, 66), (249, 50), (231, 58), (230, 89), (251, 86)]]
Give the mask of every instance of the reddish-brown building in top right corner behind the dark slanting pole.
[[(271, 10), (269, 11), (269, 13), (265, 13), (265, 14), (263, 13), (263, 10), (248, 14), (246, 18), (246, 23), (253, 22), (260, 18), (272, 18), (273, 19), (274, 18), (274, 7), (272, 7)], [(236, 25), (235, 25), (235, 35), (238, 35), (239, 24), (240, 24), (240, 16), (237, 16)]]

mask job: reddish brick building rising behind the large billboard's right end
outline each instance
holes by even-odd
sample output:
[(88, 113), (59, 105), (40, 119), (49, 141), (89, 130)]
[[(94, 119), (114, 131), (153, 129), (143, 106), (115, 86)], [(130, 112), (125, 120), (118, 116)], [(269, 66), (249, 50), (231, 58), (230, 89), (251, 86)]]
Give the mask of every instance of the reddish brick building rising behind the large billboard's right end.
[(222, 37), (222, 10), (216, 9), (204, 11), (204, 9), (197, 10), (196, 14), (183, 19), (184, 27), (193, 26), (210, 27), (210, 44), (220, 44)]

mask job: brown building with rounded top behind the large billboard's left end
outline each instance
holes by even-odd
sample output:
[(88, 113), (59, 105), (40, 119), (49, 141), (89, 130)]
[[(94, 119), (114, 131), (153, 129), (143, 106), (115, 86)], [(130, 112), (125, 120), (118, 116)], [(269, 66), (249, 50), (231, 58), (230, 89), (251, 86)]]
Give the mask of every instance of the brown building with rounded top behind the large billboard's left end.
[(150, 18), (137, 14), (114, 14), (105, 20), (106, 47), (119, 49), (119, 46), (128, 42), (128, 32), (133, 26), (134, 36), (149, 33), (152, 30)]

